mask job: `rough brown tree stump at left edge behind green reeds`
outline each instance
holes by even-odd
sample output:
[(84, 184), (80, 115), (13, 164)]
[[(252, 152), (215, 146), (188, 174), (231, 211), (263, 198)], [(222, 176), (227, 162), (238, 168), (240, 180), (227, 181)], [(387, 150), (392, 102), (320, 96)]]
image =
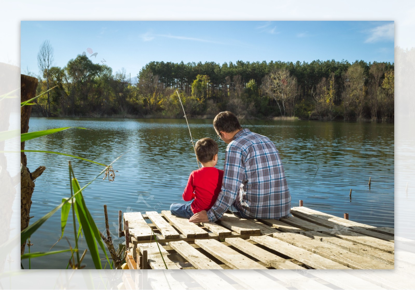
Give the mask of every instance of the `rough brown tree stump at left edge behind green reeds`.
[[(31, 76), (20, 75), (20, 97), (21, 101), (27, 101), (36, 96), (36, 88), (38, 84), (37, 78)], [(23, 106), (20, 109), (20, 133), (27, 133), (29, 131), (29, 118), (32, 106)], [(24, 142), (20, 143), (21, 150), (24, 150)], [(32, 194), (34, 190), (34, 180), (39, 177), (46, 169), (44, 166), (39, 166), (33, 173), (27, 168), (27, 158), (24, 152), (20, 153), (20, 230), (24, 230), (29, 226), (30, 207), (32, 205)], [(20, 246), (20, 253), (24, 253), (24, 246)]]

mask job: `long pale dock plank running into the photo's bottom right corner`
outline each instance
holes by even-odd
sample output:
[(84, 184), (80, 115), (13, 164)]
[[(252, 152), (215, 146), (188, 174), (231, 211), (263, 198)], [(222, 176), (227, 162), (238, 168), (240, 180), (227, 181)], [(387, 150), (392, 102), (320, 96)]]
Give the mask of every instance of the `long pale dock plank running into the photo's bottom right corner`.
[(360, 256), (298, 233), (277, 233), (275, 238), (353, 269), (393, 269), (393, 265)]

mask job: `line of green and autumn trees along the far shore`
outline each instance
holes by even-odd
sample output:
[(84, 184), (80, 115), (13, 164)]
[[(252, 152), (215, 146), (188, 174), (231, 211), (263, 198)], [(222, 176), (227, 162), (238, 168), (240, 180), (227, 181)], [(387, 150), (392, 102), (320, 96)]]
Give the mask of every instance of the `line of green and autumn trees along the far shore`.
[(386, 62), (152, 61), (135, 84), (125, 69), (114, 74), (85, 55), (41, 71), (38, 92), (56, 86), (33, 108), (44, 116), (181, 117), (177, 90), (186, 114), (194, 117), (230, 110), (256, 118), (394, 118), (394, 64)]

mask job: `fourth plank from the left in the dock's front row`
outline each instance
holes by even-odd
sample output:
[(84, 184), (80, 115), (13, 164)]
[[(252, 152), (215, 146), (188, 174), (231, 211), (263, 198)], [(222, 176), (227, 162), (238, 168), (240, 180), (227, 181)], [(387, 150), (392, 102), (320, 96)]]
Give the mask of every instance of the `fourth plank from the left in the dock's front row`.
[(281, 258), (269, 251), (261, 249), (254, 244), (249, 243), (241, 238), (226, 238), (225, 241), (235, 248), (247, 253), (249, 256), (256, 258), (259, 261), (266, 263), (267, 265), (276, 269), (297, 269), (304, 270), (303, 267), (294, 264), (284, 258)]

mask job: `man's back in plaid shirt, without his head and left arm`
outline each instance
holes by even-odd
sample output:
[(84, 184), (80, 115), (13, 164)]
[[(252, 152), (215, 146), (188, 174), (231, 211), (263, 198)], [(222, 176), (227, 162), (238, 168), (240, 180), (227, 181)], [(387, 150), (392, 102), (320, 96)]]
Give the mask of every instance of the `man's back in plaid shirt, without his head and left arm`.
[[(249, 217), (280, 218), (290, 213), (291, 196), (281, 158), (273, 142), (249, 129), (229, 146), (242, 152), (244, 174), (237, 206)], [(230, 155), (230, 153), (229, 153)]]

